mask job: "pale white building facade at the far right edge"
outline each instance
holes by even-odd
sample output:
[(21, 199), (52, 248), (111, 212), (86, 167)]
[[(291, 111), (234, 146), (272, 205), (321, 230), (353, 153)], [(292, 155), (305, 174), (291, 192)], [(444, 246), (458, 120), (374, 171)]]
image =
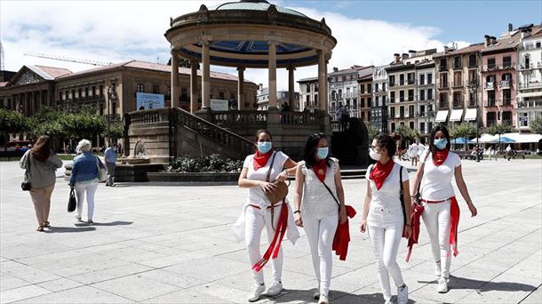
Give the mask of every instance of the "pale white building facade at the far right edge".
[(530, 132), (530, 122), (542, 116), (542, 29), (519, 28), (517, 121), (520, 132)]

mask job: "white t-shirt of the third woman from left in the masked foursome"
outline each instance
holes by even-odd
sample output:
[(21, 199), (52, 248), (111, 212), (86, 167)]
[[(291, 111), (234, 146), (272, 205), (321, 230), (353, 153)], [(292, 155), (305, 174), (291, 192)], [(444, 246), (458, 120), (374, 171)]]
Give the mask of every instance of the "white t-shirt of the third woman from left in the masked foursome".
[(381, 226), (387, 224), (403, 224), (403, 206), (401, 206), (401, 185), (399, 184), (399, 169), (403, 168), (403, 180), (409, 180), (409, 172), (400, 164), (395, 163), (392, 172), (389, 173), (380, 189), (371, 180), (373, 164), (367, 168), (365, 179), (371, 187), (371, 206), (367, 216), (369, 226)]

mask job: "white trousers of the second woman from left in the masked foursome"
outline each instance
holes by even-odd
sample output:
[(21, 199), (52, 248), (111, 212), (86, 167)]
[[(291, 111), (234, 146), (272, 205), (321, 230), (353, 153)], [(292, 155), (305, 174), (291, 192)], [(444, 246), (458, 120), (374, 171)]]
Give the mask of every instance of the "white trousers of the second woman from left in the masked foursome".
[(313, 258), (316, 279), (320, 285), (320, 293), (328, 294), (331, 284), (333, 238), (337, 225), (338, 215), (324, 216), (322, 219), (303, 218), (303, 228), (307, 234), (310, 252)]

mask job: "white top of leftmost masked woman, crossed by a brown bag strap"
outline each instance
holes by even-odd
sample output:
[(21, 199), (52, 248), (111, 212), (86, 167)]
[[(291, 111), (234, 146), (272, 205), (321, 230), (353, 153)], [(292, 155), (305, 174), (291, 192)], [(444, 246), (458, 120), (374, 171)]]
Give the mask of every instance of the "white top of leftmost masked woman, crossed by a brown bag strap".
[[(271, 169), (271, 175), (269, 176), (269, 181), (273, 181), (276, 179), (276, 177), (283, 172), (284, 163), (290, 158), (289, 156), (285, 155), (281, 151), (275, 152), (275, 162), (273, 162), (273, 168)], [(271, 162), (273, 161), (273, 156), (269, 157), (269, 160), (267, 161), (267, 164), (258, 170), (254, 171), (254, 155), (246, 156), (244, 159), (243, 167), (247, 168), (249, 171), (247, 172), (247, 179), (249, 180), (263, 180), (265, 181), (267, 178), (267, 171), (269, 170), (269, 166), (271, 165)], [(259, 187), (252, 187), (249, 188), (249, 197), (247, 198), (248, 204), (257, 204), (260, 207), (270, 205), (269, 201), (267, 200), (266, 194), (264, 191)]]

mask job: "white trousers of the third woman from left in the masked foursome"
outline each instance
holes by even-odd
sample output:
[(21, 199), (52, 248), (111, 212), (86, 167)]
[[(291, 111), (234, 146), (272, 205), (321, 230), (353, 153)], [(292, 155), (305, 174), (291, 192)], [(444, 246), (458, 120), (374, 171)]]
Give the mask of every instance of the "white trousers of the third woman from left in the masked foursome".
[(392, 292), (389, 276), (394, 279), (395, 286), (401, 287), (404, 284), (401, 268), (397, 264), (397, 250), (403, 235), (403, 221), (399, 224), (379, 227), (369, 226), (367, 231), (371, 239), (372, 250), (377, 258), (380, 288), (382, 288), (384, 300), (390, 300)]

